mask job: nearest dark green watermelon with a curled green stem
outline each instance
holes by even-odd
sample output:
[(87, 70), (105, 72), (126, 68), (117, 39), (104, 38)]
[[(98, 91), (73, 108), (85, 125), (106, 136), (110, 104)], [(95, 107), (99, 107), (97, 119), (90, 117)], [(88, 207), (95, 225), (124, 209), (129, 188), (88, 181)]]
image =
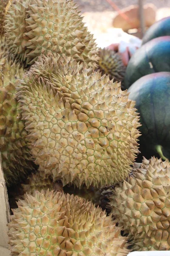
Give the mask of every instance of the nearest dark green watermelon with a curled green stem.
[(159, 153), (163, 159), (170, 159), (170, 72), (143, 76), (128, 92), (129, 98), (136, 101), (142, 124), (142, 154), (149, 158)]

